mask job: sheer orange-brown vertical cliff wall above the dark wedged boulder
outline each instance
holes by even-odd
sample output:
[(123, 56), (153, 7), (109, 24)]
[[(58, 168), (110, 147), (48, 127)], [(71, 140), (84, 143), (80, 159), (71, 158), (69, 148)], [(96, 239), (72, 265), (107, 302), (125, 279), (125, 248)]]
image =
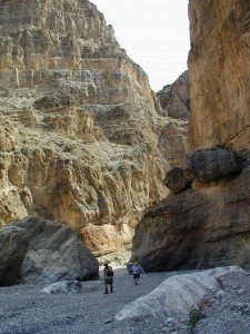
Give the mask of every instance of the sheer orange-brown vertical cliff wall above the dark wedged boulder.
[(190, 1), (191, 150), (249, 149), (250, 3)]

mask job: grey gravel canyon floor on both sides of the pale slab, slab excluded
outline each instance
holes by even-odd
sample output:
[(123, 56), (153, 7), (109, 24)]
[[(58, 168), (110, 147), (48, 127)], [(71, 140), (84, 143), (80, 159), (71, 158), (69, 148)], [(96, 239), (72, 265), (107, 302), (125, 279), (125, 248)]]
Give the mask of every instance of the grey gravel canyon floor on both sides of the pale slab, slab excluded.
[(221, 276), (219, 288), (201, 301), (206, 317), (193, 331), (187, 320), (114, 320), (126, 304), (183, 273), (150, 273), (136, 285), (126, 269), (117, 269), (108, 295), (102, 279), (83, 282), (77, 295), (42, 294), (44, 286), (0, 287), (0, 334), (250, 334), (250, 273)]

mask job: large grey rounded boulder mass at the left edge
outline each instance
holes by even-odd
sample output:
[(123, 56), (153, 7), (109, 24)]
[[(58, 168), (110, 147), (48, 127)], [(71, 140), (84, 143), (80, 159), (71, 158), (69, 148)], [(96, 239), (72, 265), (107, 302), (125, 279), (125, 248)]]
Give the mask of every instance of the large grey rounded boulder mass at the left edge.
[(96, 257), (67, 226), (30, 216), (0, 229), (1, 285), (97, 278)]

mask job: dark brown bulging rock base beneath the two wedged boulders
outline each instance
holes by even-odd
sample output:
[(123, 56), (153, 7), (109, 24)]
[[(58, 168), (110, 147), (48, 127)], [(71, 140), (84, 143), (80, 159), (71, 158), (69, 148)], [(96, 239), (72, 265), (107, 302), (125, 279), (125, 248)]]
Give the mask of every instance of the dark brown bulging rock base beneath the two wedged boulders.
[[(169, 196), (138, 224), (132, 259), (147, 271), (233, 263), (250, 243), (250, 169)], [(237, 196), (236, 196), (237, 194)]]

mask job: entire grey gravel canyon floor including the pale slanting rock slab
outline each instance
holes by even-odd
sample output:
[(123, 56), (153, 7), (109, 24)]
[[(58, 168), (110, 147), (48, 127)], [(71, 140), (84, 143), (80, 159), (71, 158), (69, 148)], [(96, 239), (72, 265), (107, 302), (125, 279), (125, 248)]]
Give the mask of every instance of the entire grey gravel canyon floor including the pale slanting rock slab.
[[(224, 318), (237, 315), (242, 328), (249, 324), (250, 304), (246, 298), (250, 295), (247, 288), (250, 277), (241, 269), (230, 269), (229, 274), (223, 269), (150, 273), (141, 276), (139, 285), (134, 285), (126, 269), (117, 269), (114, 275), (114, 292), (108, 295), (103, 294), (101, 279), (83, 282), (79, 294), (42, 294), (44, 286), (38, 285), (0, 287), (0, 333), (187, 334), (191, 332), (188, 310), (199, 302), (206, 318), (200, 327), (198, 323), (196, 333), (217, 333), (220, 307), (224, 307), (229, 296), (234, 306), (227, 303)], [(239, 293), (244, 301), (237, 304)], [(207, 332), (200, 332), (204, 326)], [(232, 328), (230, 321), (223, 323), (220, 334), (231, 333), (228, 327)]]

